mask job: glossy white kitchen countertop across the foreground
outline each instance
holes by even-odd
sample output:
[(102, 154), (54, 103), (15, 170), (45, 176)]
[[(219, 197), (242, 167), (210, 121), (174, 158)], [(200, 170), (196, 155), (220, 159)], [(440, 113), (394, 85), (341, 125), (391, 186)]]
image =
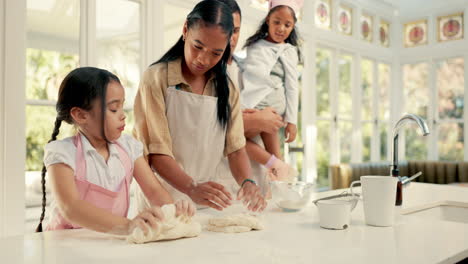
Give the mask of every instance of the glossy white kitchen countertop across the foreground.
[[(468, 188), (411, 183), (404, 189), (403, 209), (444, 200), (468, 202)], [(206, 209), (197, 217), (203, 222), (218, 214)], [(8, 237), (0, 239), (0, 262), (426, 264), (468, 257), (468, 224), (399, 216), (393, 227), (371, 227), (364, 223), (362, 201), (346, 230), (320, 228), (314, 205), (284, 213), (271, 204), (262, 217), (267, 226), (262, 231), (223, 234), (204, 230), (196, 238), (143, 245), (89, 230)]]

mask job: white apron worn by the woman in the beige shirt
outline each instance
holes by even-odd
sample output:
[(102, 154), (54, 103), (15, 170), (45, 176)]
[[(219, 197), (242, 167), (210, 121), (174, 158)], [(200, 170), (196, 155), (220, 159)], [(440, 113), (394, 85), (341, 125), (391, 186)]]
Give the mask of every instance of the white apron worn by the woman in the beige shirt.
[[(184, 92), (170, 86), (165, 102), (176, 162), (195, 183), (216, 182), (226, 141), (226, 129), (218, 122), (218, 98)], [(174, 200), (190, 199), (159, 175), (156, 176)], [(151, 205), (141, 189), (137, 189), (138, 211), (142, 211)]]

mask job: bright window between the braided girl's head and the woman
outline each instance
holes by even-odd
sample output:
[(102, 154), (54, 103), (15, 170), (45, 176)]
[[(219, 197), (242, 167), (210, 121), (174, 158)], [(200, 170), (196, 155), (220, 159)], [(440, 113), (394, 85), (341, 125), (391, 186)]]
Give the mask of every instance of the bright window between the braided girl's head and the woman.
[(117, 75), (125, 89), (124, 133), (128, 134), (134, 125), (133, 102), (141, 72), (140, 47), (140, 4), (128, 0), (96, 1), (97, 64)]

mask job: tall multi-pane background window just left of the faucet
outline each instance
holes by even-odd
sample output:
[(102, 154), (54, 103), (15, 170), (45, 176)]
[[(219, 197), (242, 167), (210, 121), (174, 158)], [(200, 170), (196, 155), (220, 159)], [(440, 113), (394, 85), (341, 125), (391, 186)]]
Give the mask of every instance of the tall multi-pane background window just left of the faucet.
[[(315, 65), (317, 178), (319, 186), (327, 186), (330, 164), (387, 159), (391, 68), (322, 47), (317, 48)], [(361, 75), (359, 87), (356, 72)]]

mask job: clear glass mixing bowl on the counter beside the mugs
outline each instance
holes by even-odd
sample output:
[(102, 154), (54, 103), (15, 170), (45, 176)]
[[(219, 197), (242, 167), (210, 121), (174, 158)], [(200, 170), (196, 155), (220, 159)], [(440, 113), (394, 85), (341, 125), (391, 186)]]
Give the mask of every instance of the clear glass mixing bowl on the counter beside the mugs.
[(306, 207), (314, 192), (314, 184), (307, 182), (272, 181), (272, 199), (285, 212), (296, 212)]

